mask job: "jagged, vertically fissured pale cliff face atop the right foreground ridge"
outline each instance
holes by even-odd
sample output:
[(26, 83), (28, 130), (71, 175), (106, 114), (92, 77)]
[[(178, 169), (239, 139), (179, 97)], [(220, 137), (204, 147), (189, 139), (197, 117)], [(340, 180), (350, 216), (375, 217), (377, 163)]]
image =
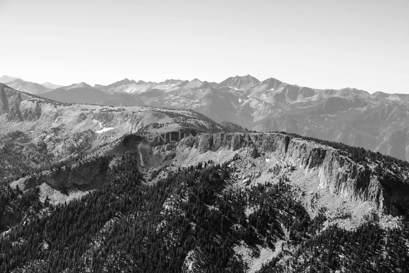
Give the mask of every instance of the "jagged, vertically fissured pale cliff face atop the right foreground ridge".
[[(316, 172), (321, 188), (334, 194), (360, 202), (368, 201), (386, 214), (400, 215), (409, 210), (409, 185), (402, 177), (389, 181), (375, 175), (371, 167), (364, 167), (340, 155), (337, 149), (315, 142), (292, 138), (279, 133), (268, 134), (216, 134), (185, 138), (181, 145), (198, 149), (200, 153), (220, 148), (234, 152), (250, 148), (266, 158), (275, 157), (283, 165), (297, 166), (308, 174)], [(396, 187), (395, 187), (396, 185)]]

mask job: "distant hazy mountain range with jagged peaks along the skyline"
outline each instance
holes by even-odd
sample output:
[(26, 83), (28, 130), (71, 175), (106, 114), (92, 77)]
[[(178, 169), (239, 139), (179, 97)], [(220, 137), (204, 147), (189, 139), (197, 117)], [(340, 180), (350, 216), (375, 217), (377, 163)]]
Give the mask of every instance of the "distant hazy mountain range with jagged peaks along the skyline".
[(226, 120), (250, 130), (282, 130), (409, 160), (408, 94), (315, 89), (274, 78), (259, 81), (250, 75), (220, 83), (123, 79), (107, 86), (90, 86), (82, 82), (53, 90), (47, 89), (50, 85), (21, 79), (7, 85), (59, 102), (190, 108), (218, 122)]

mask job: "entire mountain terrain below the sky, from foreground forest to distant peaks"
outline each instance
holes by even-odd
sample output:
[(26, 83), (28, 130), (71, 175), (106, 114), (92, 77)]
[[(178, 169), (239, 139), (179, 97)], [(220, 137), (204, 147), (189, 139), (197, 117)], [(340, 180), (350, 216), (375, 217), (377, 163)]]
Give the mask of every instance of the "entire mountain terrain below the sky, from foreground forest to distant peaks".
[(409, 270), (405, 95), (12, 82), (0, 272)]

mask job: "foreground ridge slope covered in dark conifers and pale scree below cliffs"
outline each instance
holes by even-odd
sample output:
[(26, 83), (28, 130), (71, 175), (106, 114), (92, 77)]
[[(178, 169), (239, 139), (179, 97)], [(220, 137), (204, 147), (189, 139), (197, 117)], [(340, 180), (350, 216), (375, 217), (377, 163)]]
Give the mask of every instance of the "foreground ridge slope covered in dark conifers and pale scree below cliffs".
[[(189, 132), (194, 134), (185, 131)], [(7, 261), (13, 261), (0, 262), (2, 271), (114, 267), (175, 272), (282, 272), (287, 268), (291, 272), (313, 263), (317, 268), (324, 264), (331, 270), (355, 272), (357, 259), (375, 257), (376, 264), (367, 263), (364, 268), (404, 270), (409, 225), (380, 212), (397, 212), (391, 210), (392, 200), (408, 211), (407, 182), (399, 189), (388, 188), (386, 176), (380, 178), (375, 167), (348, 159), (343, 150), (281, 133), (222, 133), (211, 138), (203, 134), (196, 139), (174, 138), (177, 135), (153, 142), (142, 135), (127, 135), (99, 159), (84, 158), (34, 180), (24, 178), (28, 187), (21, 198), (24, 203), (15, 197), (21, 194), (14, 189), (22, 180), (12, 183), (8, 196), (14, 197), (7, 198), (14, 206), (31, 203), (32, 210), (47, 213), (40, 214), (44, 224), (39, 225), (39, 220), (18, 223), (0, 237), (0, 250)], [(383, 165), (387, 161), (379, 159), (384, 174), (389, 173)], [(360, 160), (371, 162), (371, 158)], [(96, 168), (97, 164), (101, 167)], [(393, 163), (391, 169), (399, 164)], [(52, 183), (55, 176), (66, 176), (67, 170), (76, 174), (69, 180), (80, 181), (89, 176), (90, 165), (104, 179), (96, 178), (99, 187), (81, 199), (56, 205), (35, 190), (42, 185), (45, 189), (44, 184)], [(391, 174), (397, 175), (393, 183), (407, 175), (407, 162), (400, 166), (402, 173)], [(72, 186), (65, 191), (74, 195)], [(337, 234), (342, 232), (348, 237), (339, 241)], [(329, 236), (338, 238), (332, 247), (325, 243)], [(376, 248), (363, 251), (374, 242)], [(331, 255), (323, 259), (309, 244), (325, 246), (323, 250), (333, 251), (335, 257), (348, 255), (348, 263), (342, 264), (342, 257), (330, 263)], [(103, 258), (97, 255), (102, 251)], [(149, 253), (157, 255), (148, 258)], [(382, 260), (384, 253), (391, 257), (389, 262)], [(304, 262), (297, 259), (300, 255)]]

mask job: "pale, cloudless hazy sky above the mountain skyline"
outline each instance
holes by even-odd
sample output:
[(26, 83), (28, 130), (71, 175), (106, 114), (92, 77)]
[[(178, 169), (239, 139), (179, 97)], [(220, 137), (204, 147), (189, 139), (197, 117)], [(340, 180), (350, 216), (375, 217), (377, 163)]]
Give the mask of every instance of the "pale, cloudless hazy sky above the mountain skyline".
[(0, 76), (106, 85), (251, 74), (409, 93), (408, 13), (408, 0), (0, 0)]

